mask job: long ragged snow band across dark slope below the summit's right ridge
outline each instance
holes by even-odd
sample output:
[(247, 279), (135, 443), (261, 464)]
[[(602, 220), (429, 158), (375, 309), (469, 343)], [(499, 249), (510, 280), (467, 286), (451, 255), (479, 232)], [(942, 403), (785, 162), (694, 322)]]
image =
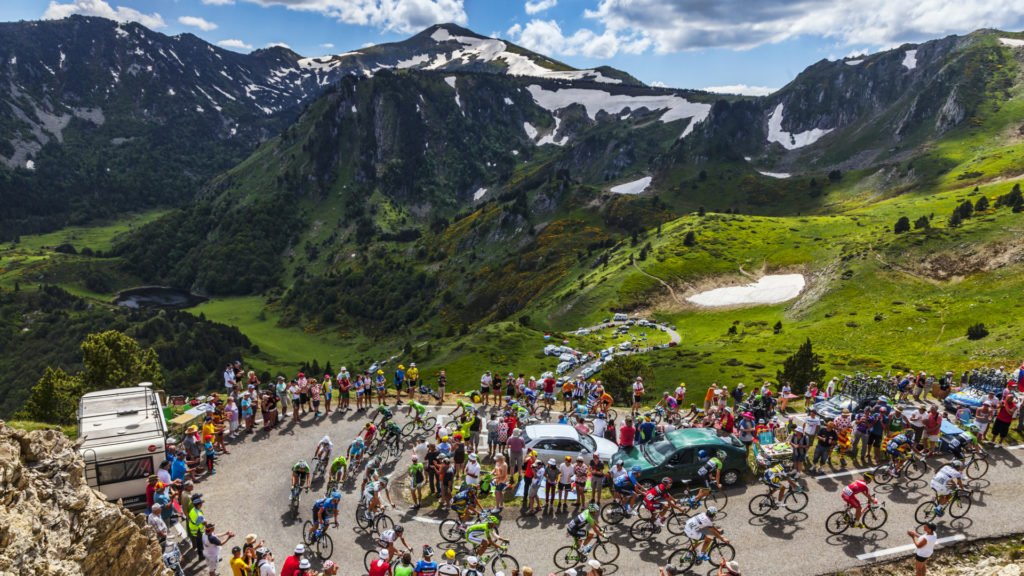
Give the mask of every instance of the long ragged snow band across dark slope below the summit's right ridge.
[(589, 88), (561, 88), (556, 90), (546, 90), (537, 84), (531, 84), (526, 88), (534, 101), (541, 108), (550, 112), (568, 108), (579, 104), (587, 109), (587, 116), (592, 120), (597, 120), (597, 113), (605, 112), (611, 115), (618, 115), (626, 109), (639, 110), (645, 108), (650, 111), (665, 110), (659, 120), (668, 123), (676, 120), (690, 119), (690, 123), (683, 130), (680, 138), (686, 137), (693, 131), (694, 126), (703, 122), (711, 113), (710, 104), (691, 102), (686, 98), (675, 94), (645, 94), (633, 96), (629, 94), (612, 94), (605, 90), (592, 90)]

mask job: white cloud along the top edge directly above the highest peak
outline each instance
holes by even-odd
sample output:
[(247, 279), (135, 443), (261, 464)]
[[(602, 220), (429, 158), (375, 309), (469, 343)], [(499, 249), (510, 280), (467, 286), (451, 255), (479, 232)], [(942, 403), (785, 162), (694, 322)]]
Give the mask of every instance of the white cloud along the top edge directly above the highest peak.
[(372, 26), (399, 33), (419, 32), (431, 25), (466, 25), (464, 0), (247, 0), (261, 6), (319, 12), (344, 24)]

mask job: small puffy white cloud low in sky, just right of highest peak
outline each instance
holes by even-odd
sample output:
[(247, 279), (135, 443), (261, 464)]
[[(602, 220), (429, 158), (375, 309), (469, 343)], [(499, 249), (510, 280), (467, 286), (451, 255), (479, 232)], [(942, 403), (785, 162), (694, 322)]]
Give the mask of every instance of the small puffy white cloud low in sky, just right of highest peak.
[(650, 45), (648, 40), (635, 35), (620, 36), (610, 31), (598, 35), (586, 28), (565, 36), (555, 20), (531, 19), (526, 26), (516, 24), (506, 34), (517, 44), (550, 55), (610, 58), (618, 52), (637, 54)]

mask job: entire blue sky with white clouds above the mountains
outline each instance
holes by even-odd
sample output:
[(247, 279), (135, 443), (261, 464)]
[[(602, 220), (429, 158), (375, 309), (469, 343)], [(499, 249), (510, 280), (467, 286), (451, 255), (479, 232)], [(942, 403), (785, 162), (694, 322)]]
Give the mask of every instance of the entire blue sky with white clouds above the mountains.
[(681, 88), (778, 88), (808, 65), (979, 28), (1024, 28), (1024, 0), (6, 0), (0, 19), (71, 13), (303, 55), (456, 22), (579, 68)]

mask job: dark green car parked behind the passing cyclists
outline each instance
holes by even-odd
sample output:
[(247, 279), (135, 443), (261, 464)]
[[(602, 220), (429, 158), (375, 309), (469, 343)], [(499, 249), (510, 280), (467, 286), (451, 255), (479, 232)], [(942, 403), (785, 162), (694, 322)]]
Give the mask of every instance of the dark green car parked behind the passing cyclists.
[(676, 482), (695, 482), (697, 468), (702, 463), (697, 452), (705, 450), (714, 456), (719, 450), (725, 452), (722, 458), (722, 485), (732, 486), (739, 482), (746, 466), (746, 449), (734, 436), (718, 436), (712, 428), (684, 428), (673, 430), (665, 438), (650, 444), (635, 446), (629, 450), (620, 449), (611, 462), (623, 461), (627, 469), (640, 466), (640, 480), (658, 482), (669, 477)]

